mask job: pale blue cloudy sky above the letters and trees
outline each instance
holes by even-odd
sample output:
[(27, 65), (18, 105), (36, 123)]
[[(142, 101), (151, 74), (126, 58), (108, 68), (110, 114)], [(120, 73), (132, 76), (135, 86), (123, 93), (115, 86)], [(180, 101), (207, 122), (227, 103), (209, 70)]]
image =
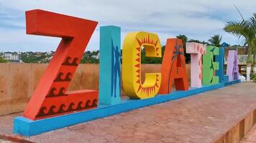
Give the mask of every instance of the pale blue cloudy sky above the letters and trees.
[(189, 39), (208, 41), (221, 34), (228, 44), (243, 39), (227, 34), (227, 21), (240, 21), (234, 4), (244, 19), (256, 12), (255, 0), (0, 0), (0, 51), (55, 51), (60, 38), (26, 34), (25, 11), (43, 9), (98, 21), (86, 51), (99, 49), (99, 27), (121, 27), (121, 40), (132, 31), (157, 34), (166, 39), (185, 34)]

